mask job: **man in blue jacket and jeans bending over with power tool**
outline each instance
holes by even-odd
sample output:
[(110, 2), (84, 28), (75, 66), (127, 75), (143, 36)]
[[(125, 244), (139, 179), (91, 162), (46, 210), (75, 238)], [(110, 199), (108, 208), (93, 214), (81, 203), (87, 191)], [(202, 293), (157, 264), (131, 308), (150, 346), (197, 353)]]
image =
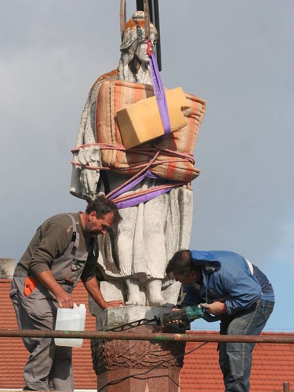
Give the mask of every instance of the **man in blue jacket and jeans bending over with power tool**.
[[(200, 304), (219, 316), (222, 335), (259, 335), (274, 308), (271, 283), (237, 253), (179, 251), (166, 274), (184, 285), (181, 307)], [(222, 342), (218, 348), (225, 392), (248, 392), (254, 344)]]

